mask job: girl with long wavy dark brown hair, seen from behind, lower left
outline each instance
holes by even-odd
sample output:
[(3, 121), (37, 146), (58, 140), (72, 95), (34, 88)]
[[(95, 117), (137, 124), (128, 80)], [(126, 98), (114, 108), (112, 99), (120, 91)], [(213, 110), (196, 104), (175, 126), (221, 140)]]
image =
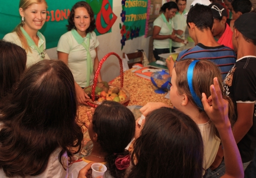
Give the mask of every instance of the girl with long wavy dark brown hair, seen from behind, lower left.
[(0, 108), (0, 176), (68, 176), (82, 147), (74, 78), (66, 64), (43, 60), (25, 73)]

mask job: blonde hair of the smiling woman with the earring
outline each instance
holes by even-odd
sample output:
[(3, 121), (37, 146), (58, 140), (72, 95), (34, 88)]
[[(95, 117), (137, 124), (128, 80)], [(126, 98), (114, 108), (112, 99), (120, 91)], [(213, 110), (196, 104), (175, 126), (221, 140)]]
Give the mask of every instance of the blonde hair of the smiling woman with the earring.
[[(20, 0), (20, 5), (19, 5), (19, 8), (22, 8), (23, 11), (25, 11), (26, 9), (28, 9), (29, 6), (31, 6), (32, 4), (38, 4), (38, 3), (45, 3), (46, 5), (46, 9), (48, 8), (47, 6), (47, 3), (45, 0)], [(22, 44), (22, 47), (26, 50), (26, 52), (31, 52), (31, 49), (30, 47), (28, 46), (28, 42), (27, 42), (27, 39), (26, 37), (23, 35), (23, 33), (21, 32), (20, 30), (20, 27), (22, 27), (24, 24), (22, 24), (22, 22), (20, 22), (19, 25), (17, 25), (13, 32), (16, 32), (20, 41), (21, 41), (21, 44)]]

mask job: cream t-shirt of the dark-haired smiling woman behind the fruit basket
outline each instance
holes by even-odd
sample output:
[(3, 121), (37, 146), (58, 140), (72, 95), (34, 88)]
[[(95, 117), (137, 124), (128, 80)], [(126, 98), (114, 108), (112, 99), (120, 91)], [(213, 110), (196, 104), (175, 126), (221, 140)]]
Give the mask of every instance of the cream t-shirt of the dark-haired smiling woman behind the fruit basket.
[[(95, 32), (90, 32), (90, 54), (92, 57), (92, 64), (96, 57), (95, 48), (99, 46), (99, 41)], [(86, 40), (86, 37), (84, 37)], [(86, 87), (87, 81), (87, 51), (83, 45), (78, 44), (71, 31), (63, 34), (60, 37), (57, 51), (68, 54), (68, 67), (71, 70), (76, 83), (80, 87)], [(93, 83), (94, 73), (90, 76), (90, 85)]]

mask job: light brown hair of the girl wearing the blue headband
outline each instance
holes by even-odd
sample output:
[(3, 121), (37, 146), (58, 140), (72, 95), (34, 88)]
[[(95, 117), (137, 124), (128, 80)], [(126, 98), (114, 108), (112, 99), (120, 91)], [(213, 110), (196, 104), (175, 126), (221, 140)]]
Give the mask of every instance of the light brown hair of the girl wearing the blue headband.
[[(181, 60), (176, 62), (175, 72), (176, 72), (177, 79), (175, 84), (177, 86), (178, 93), (180, 95), (181, 94), (187, 95), (188, 100), (199, 110), (199, 112), (204, 112), (196, 105), (191, 95), (190, 89), (188, 87), (188, 78), (187, 78), (188, 66), (194, 60), (196, 59), (186, 59), (186, 60)], [(196, 95), (200, 98), (200, 100), (202, 99), (202, 93), (205, 93), (206, 97), (208, 98), (209, 96), (211, 96), (210, 86), (213, 84), (214, 77), (218, 78), (223, 99), (227, 100), (229, 103), (228, 116), (229, 116), (229, 119), (232, 120), (232, 117), (234, 114), (234, 106), (231, 99), (228, 96), (223, 95), (222, 77), (220, 73), (220, 68), (218, 68), (213, 62), (208, 60), (200, 60), (196, 63), (193, 71), (193, 78), (192, 78), (193, 89)], [(205, 115), (207, 114), (205, 113)], [(232, 123), (233, 122), (231, 122), (231, 124)], [(215, 135), (220, 138), (216, 128), (215, 128)]]

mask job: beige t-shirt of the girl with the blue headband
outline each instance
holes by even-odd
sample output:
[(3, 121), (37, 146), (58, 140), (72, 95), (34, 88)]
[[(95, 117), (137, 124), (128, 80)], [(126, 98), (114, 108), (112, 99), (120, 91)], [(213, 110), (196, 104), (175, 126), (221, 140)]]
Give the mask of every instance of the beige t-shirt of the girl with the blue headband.
[(209, 124), (209, 121), (205, 124), (197, 124), (201, 132), (204, 142), (204, 169), (208, 169), (216, 155), (220, 146), (220, 139), (214, 137), (214, 127)]

